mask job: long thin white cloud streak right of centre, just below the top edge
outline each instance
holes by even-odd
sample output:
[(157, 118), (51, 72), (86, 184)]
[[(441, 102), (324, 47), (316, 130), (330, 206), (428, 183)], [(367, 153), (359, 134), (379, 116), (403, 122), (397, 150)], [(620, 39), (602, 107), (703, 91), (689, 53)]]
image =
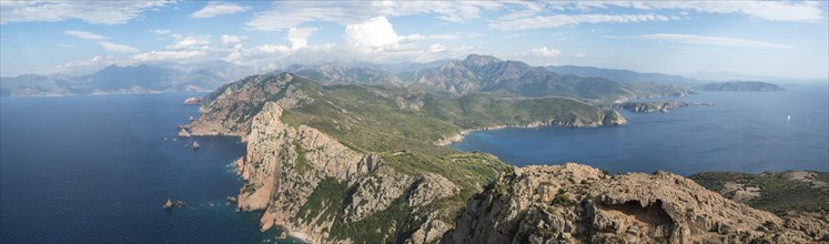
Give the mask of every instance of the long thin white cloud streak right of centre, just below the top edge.
[(646, 14), (555, 14), (536, 16), (510, 20), (497, 20), (489, 27), (497, 30), (527, 30), (577, 26), (582, 23), (629, 23), (645, 21), (668, 21), (670, 17), (646, 13)]

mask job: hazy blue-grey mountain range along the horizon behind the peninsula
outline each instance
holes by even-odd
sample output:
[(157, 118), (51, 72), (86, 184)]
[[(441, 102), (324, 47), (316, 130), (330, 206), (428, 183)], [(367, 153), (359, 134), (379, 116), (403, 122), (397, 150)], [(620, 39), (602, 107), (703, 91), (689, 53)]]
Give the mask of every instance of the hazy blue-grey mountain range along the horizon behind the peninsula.
[[(454, 95), (488, 92), (507, 96), (573, 96), (617, 101), (643, 96), (685, 95), (701, 81), (663, 73), (637, 73), (593, 67), (533, 67), (522, 61), (469, 54), (464, 60), (427, 63), (294, 64), (284, 70), (327, 84), (394, 84), (419, 87)], [(110, 65), (80, 77), (27, 74), (2, 78), (2, 95), (72, 95), (211, 91), (253, 74), (228, 62), (199, 65)]]

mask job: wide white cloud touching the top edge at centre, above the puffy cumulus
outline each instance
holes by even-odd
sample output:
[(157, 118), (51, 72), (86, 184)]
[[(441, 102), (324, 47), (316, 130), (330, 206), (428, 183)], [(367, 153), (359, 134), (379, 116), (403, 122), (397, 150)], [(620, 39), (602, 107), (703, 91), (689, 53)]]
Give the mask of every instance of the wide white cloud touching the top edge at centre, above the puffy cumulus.
[(312, 21), (343, 26), (376, 17), (435, 16), (449, 22), (466, 22), (482, 11), (499, 9), (495, 1), (277, 1), (271, 10), (255, 14), (246, 24), (257, 30), (283, 30)]

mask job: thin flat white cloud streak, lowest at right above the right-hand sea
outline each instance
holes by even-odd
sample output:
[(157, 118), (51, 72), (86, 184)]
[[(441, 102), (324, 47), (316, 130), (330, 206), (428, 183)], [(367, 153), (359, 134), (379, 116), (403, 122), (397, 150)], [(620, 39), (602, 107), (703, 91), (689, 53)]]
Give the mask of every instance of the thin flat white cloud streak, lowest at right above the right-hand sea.
[(656, 34), (641, 34), (641, 35), (635, 35), (635, 37), (609, 37), (608, 35), (606, 38), (644, 39), (644, 40), (683, 43), (683, 44), (718, 45), (718, 47), (731, 47), (731, 48), (757, 48), (757, 49), (791, 48), (791, 45), (776, 44), (776, 43), (748, 40), (748, 39), (696, 35), (696, 34), (656, 33)]

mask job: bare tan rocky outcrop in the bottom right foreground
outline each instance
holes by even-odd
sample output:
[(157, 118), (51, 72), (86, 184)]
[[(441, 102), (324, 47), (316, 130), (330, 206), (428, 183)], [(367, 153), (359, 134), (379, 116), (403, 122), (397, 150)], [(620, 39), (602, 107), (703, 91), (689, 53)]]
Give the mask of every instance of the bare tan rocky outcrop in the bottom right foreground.
[[(791, 226), (786, 227), (785, 223)], [(735, 203), (683, 176), (608, 176), (564, 164), (503, 175), (466, 206), (446, 243), (803, 243), (820, 224), (799, 225)]]

